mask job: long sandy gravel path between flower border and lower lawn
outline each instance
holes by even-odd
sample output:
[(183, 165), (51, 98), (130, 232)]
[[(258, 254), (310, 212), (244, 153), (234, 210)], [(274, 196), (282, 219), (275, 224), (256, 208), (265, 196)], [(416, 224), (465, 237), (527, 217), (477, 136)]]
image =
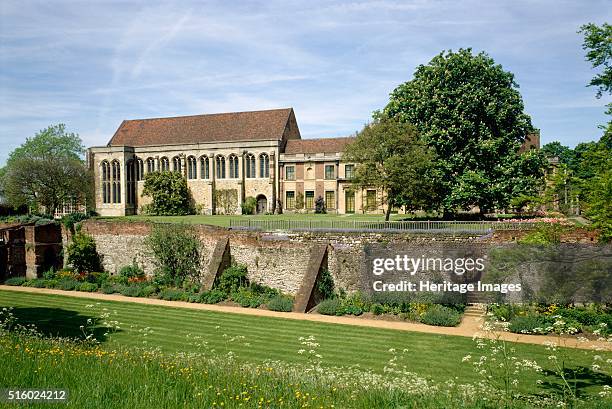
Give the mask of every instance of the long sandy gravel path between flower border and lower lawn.
[[(413, 332), (423, 332), (428, 334), (439, 334), (439, 335), (456, 335), (462, 337), (474, 337), (474, 336), (484, 336), (485, 333), (480, 330), (480, 325), (482, 324), (482, 317), (464, 315), (461, 324), (457, 327), (434, 327), (431, 325), (425, 324), (416, 324), (405, 321), (385, 321), (385, 320), (375, 320), (375, 319), (365, 319), (365, 318), (357, 318), (357, 317), (336, 317), (336, 316), (328, 316), (328, 315), (320, 315), (320, 314), (302, 314), (295, 312), (277, 312), (277, 311), (268, 311), (254, 308), (242, 308), (242, 307), (230, 307), (224, 305), (211, 305), (211, 304), (198, 304), (198, 303), (188, 303), (183, 301), (165, 301), (158, 300), (154, 298), (136, 298), (136, 297), (126, 297), (123, 295), (117, 294), (102, 294), (102, 293), (86, 293), (79, 291), (62, 291), (62, 290), (52, 290), (48, 288), (32, 288), (32, 287), (14, 287), (14, 286), (6, 286), (0, 285), (0, 290), (5, 291), (14, 291), (14, 292), (23, 292), (23, 293), (35, 293), (35, 294), (54, 294), (54, 295), (62, 295), (66, 297), (75, 297), (75, 298), (85, 298), (90, 300), (99, 300), (99, 301), (121, 301), (121, 302), (131, 302), (136, 304), (150, 304), (150, 305), (162, 305), (166, 307), (172, 308), (189, 308), (193, 310), (204, 310), (204, 311), (217, 311), (224, 312), (230, 314), (244, 314), (244, 315), (257, 315), (261, 317), (273, 317), (273, 318), (285, 318), (285, 319), (293, 319), (293, 320), (302, 320), (302, 321), (313, 321), (313, 322), (324, 322), (329, 324), (344, 324), (344, 325), (356, 325), (363, 327), (372, 327), (372, 328), (384, 328), (384, 329), (393, 329), (400, 331), (413, 331)], [(0, 295), (0, 302), (2, 297)], [(556, 336), (545, 336), (545, 335), (522, 335), (522, 334), (513, 334), (509, 332), (500, 332), (496, 333), (495, 336), (499, 336), (500, 339), (511, 341), (511, 342), (520, 342), (524, 344), (543, 344), (545, 342), (558, 342), (559, 338)], [(601, 341), (588, 341), (588, 342), (580, 342), (577, 338), (563, 338), (562, 346), (566, 346), (569, 348), (580, 348), (580, 349), (600, 349), (606, 351), (612, 351), (612, 344), (609, 342), (601, 342)]]

